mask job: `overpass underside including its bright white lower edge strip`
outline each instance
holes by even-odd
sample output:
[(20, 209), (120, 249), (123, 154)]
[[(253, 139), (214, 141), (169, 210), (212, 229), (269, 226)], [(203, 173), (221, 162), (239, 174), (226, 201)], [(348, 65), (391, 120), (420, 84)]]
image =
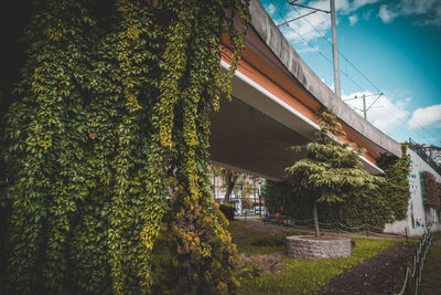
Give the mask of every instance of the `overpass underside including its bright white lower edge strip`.
[[(211, 114), (212, 162), (275, 181), (286, 179), (284, 168), (305, 155), (288, 150), (315, 138), (319, 126), (246, 76), (233, 80), (233, 99), (220, 99)], [(383, 171), (361, 157), (362, 168)]]

